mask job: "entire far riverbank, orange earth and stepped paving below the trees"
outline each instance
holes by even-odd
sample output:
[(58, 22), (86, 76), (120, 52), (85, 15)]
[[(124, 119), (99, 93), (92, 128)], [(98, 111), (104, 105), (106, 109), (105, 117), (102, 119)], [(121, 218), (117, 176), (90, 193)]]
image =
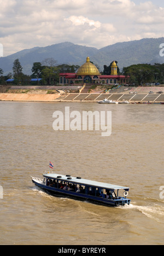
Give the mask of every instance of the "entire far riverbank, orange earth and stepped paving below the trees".
[[(63, 86), (1, 86), (0, 101), (36, 101), (36, 102), (97, 102), (108, 98), (113, 101), (129, 101), (130, 103), (159, 103), (164, 102), (162, 86), (152, 87), (127, 87), (121, 86), (116, 90), (90, 91), (79, 93), (78, 86), (69, 86), (64, 90)], [(70, 88), (73, 88), (71, 90)], [(66, 88), (65, 88), (66, 89)], [(152, 92), (149, 94), (149, 92)]]

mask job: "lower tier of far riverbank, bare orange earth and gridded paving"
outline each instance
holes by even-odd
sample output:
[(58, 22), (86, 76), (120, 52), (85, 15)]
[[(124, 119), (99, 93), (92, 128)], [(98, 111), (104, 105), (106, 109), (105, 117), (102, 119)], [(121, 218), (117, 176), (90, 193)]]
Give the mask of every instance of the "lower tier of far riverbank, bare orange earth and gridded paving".
[(164, 102), (164, 94), (0, 94), (0, 101), (97, 102), (104, 98), (130, 103)]

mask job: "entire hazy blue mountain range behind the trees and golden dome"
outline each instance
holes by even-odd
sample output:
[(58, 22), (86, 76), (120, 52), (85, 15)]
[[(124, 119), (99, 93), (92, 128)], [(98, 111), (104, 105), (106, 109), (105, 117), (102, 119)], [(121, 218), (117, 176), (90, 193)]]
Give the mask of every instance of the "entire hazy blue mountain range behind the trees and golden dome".
[(0, 58), (0, 68), (4, 75), (13, 73), (13, 62), (19, 59), (23, 67), (23, 73), (31, 75), (33, 62), (42, 62), (46, 58), (53, 58), (57, 65), (83, 65), (86, 57), (99, 66), (99, 71), (103, 71), (103, 66), (109, 66), (115, 60), (118, 61), (120, 71), (123, 67), (139, 63), (164, 63), (164, 56), (160, 56), (160, 44), (164, 44), (162, 38), (144, 38), (130, 42), (116, 43), (104, 48), (97, 49), (88, 46), (73, 44), (70, 42), (52, 44), (45, 47), (34, 47), (25, 49), (7, 57)]

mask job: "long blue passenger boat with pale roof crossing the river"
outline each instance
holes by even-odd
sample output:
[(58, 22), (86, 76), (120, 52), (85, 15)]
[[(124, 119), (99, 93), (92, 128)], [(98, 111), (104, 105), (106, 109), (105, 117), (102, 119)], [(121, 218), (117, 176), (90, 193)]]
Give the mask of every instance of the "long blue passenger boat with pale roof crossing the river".
[(127, 198), (130, 188), (119, 185), (54, 172), (43, 174), (43, 179), (32, 176), (31, 178), (35, 185), (54, 196), (69, 197), (105, 206), (130, 205), (131, 202)]

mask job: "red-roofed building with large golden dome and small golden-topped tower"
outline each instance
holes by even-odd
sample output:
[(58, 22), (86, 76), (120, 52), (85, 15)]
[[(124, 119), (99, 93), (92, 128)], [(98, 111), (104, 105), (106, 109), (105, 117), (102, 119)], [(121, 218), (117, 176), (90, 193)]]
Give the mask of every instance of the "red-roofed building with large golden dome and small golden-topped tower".
[(78, 69), (77, 73), (60, 73), (60, 84), (122, 84), (127, 83), (128, 78), (125, 75), (118, 75), (118, 66), (113, 61), (111, 66), (111, 75), (102, 75), (98, 68), (86, 58), (86, 62)]

